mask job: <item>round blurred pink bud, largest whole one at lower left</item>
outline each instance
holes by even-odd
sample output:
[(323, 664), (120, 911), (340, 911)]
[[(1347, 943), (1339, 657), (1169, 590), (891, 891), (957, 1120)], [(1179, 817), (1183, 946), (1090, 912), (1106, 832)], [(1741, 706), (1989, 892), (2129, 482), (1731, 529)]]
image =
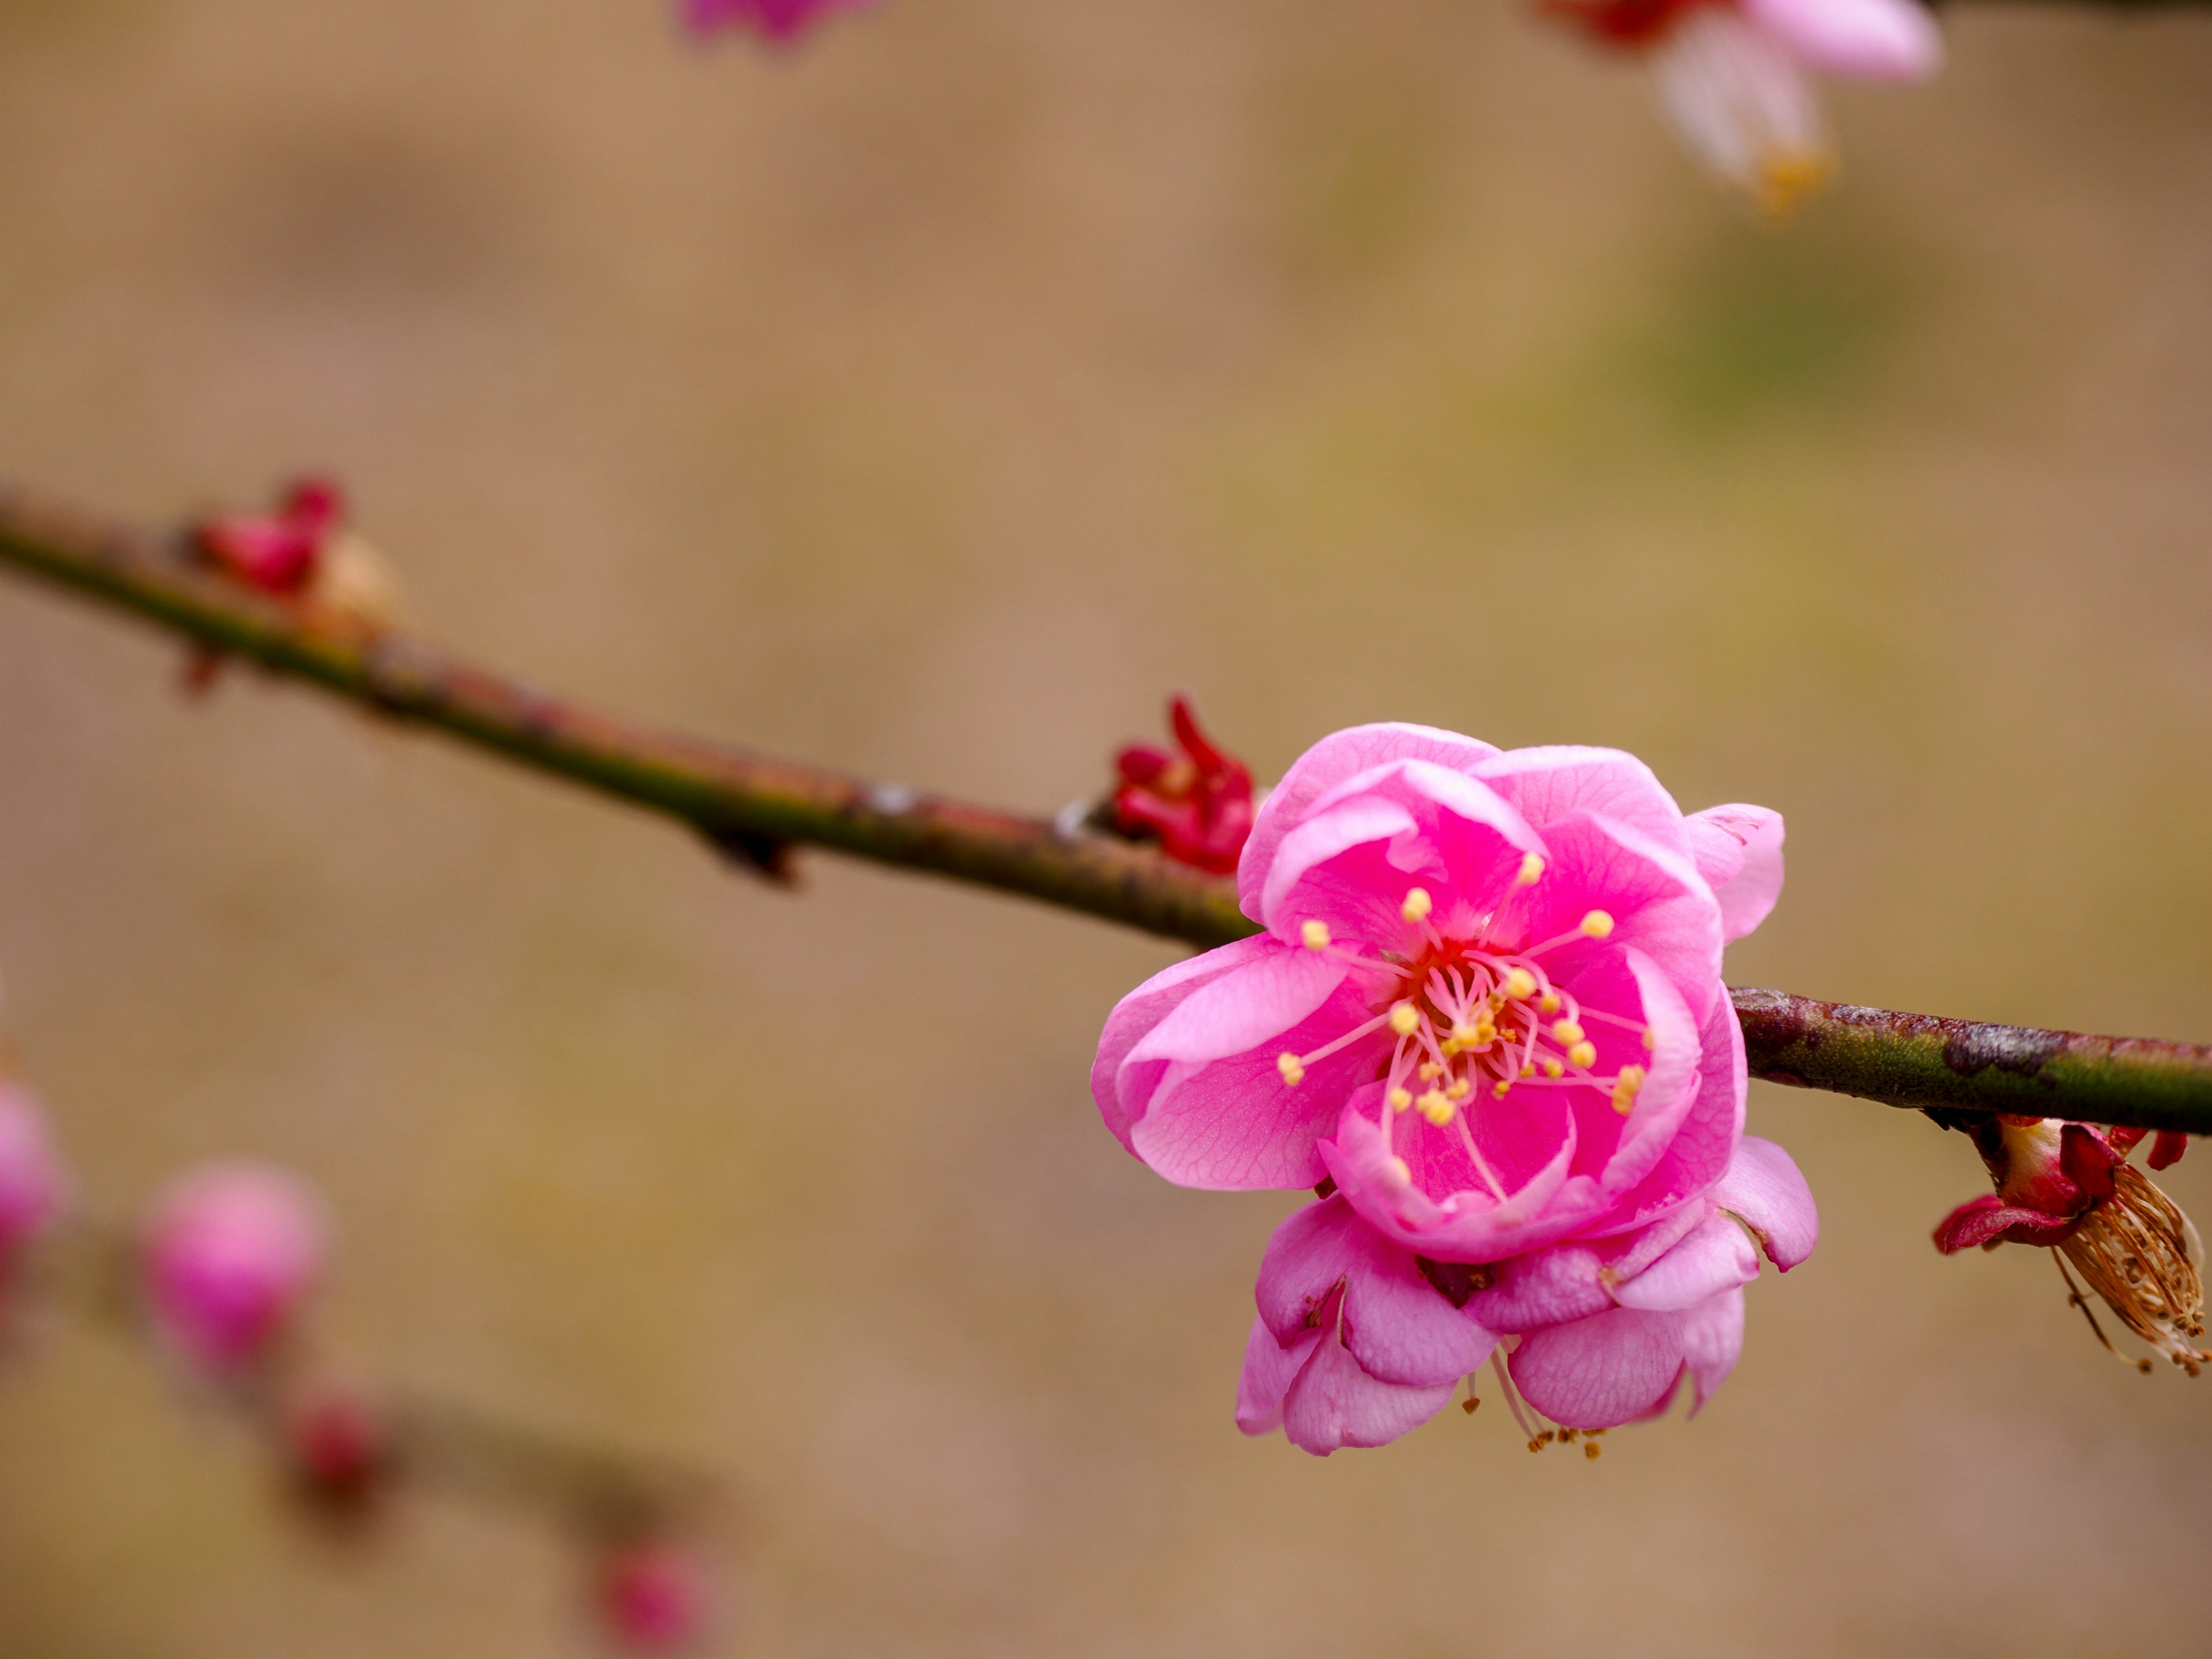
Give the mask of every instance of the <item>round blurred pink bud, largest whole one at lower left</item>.
[(146, 1290), (170, 1338), (212, 1371), (257, 1360), (323, 1267), (323, 1203), (283, 1170), (208, 1164), (146, 1223)]

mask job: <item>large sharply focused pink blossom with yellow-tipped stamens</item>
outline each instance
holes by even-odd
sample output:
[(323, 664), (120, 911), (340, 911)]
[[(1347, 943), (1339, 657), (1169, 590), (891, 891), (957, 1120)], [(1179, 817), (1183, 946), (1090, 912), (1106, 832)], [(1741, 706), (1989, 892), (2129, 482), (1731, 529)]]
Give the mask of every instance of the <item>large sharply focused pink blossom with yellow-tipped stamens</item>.
[(1686, 818), (1615, 750), (1365, 726), (1301, 757), (1237, 869), (1267, 931), (1124, 998), (1091, 1073), (1172, 1181), (1340, 1194), (1270, 1250), (1248, 1429), (1378, 1444), (1498, 1334), (1575, 1429), (1712, 1391), (1759, 1272), (1723, 1217), (1781, 1267), (1818, 1234), (1790, 1157), (1743, 1139), (1721, 984), (1781, 845), (1774, 812)]

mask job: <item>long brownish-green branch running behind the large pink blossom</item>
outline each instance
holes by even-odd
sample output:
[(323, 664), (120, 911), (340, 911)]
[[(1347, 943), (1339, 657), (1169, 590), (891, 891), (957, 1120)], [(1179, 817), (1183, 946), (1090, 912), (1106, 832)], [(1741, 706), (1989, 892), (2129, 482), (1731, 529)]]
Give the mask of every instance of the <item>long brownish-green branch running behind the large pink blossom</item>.
[[(0, 489), (0, 560), (394, 719), (666, 812), (779, 874), (792, 843), (1042, 898), (1210, 947), (1259, 929), (1234, 885), (1150, 847), (635, 726), (387, 633), (319, 633), (150, 538)], [(1752, 1075), (1889, 1106), (2212, 1133), (2212, 1048), (1736, 991)]]

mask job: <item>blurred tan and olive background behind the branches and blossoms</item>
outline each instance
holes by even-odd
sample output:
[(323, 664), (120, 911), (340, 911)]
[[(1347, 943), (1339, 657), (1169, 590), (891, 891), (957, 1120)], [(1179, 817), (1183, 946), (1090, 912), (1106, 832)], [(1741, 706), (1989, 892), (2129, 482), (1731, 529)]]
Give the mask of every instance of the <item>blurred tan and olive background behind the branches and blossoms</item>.
[[(356, 491), (429, 630), (1055, 810), (1186, 688), (1619, 743), (1790, 818), (1730, 978), (2212, 1040), (2212, 18), (1958, 7), (1781, 228), (1498, 0), (0, 0), (0, 471)], [(7, 1024), (91, 1206), (332, 1197), (372, 1374), (752, 1502), (759, 1655), (2192, 1655), (2212, 1380), (2099, 1352), (1916, 1115), (1754, 1086), (1820, 1254), (1692, 1425), (1230, 1422), (1283, 1194), (1097, 1124), (1110, 927), (560, 783), (0, 582)], [(2212, 1212), (2212, 1152), (2172, 1177)], [(367, 1548), (144, 1356), (0, 1360), (0, 1648), (582, 1655), (564, 1553)]]

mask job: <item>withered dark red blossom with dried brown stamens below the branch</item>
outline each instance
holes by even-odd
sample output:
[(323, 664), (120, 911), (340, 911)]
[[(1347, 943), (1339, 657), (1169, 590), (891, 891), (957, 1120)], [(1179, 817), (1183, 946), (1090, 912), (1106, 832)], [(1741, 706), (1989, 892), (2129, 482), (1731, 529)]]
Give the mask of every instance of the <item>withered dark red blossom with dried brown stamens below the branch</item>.
[[(2128, 1164), (2143, 1130), (2006, 1115), (1969, 1115), (1958, 1126), (1973, 1137), (1997, 1190), (1947, 1214), (1936, 1248), (1949, 1256), (1973, 1245), (2048, 1245), (2121, 1325), (2197, 1376), (2212, 1358), (2194, 1340), (2203, 1336), (2203, 1243), (2181, 1208)], [(2185, 1137), (2159, 1135), (2150, 1168), (2163, 1170), (2185, 1148)], [(2066, 1283), (2104, 1340), (2081, 1292), (2070, 1276)]]

